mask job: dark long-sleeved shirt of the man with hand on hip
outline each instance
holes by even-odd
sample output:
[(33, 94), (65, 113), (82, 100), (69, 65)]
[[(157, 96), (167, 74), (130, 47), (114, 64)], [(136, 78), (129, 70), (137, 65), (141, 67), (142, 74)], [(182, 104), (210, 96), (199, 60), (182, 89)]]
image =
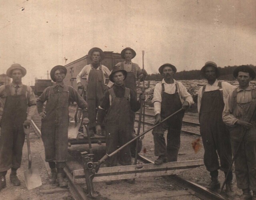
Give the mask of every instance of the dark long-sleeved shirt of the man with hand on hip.
[[(38, 112), (43, 112), (43, 105), (44, 105), (44, 102), (49, 99), (51, 87), (52, 86), (46, 88), (44, 90), (44, 92), (41, 94), (41, 96), (38, 97), (38, 99), (36, 100)], [(60, 85), (55, 85), (53, 88), (53, 91), (61, 93), (61, 92), (63, 92), (63, 89), (64, 89), (64, 84), (60, 84)], [(85, 108), (88, 107), (88, 104), (82, 98), (82, 96), (80, 96), (80, 94), (78, 94), (76, 89), (73, 88), (72, 86), (68, 86), (68, 93), (69, 93), (68, 94), (68, 105), (70, 105), (70, 102), (76, 102), (77, 105), (79, 106), (79, 108), (82, 108), (83, 113), (85, 113)]]

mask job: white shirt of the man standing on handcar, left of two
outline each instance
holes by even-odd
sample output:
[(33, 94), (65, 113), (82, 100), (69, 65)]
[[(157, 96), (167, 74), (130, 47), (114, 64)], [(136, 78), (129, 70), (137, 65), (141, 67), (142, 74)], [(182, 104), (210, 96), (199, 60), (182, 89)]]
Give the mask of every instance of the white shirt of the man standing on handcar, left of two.
[[(104, 66), (104, 65), (101, 65), (101, 66), (102, 66), (103, 78), (104, 78), (104, 83), (105, 83), (106, 82), (106, 77), (109, 77), (109, 75), (111, 73), (110, 73), (110, 70), (106, 66)], [(88, 82), (88, 76), (89, 76), (90, 70), (92, 70), (92, 65), (91, 64), (88, 64), (88, 65), (84, 66), (84, 68), (82, 68), (81, 72), (76, 76), (76, 83), (80, 83), (82, 77), (84, 77), (84, 76), (86, 78), (86, 81)], [(96, 70), (100, 70), (100, 66), (98, 66), (98, 68), (96, 68)], [(113, 85), (113, 83), (110, 81), (108, 83), (109, 88), (112, 85)]]

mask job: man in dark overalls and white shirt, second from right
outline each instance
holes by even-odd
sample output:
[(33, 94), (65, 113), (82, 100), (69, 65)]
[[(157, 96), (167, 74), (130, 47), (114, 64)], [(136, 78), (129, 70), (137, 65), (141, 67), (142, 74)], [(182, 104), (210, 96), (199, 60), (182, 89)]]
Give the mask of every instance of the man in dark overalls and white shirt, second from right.
[[(201, 69), (201, 74), (207, 79), (208, 84), (199, 89), (198, 113), (200, 122), (200, 134), (204, 145), (204, 164), (210, 172), (211, 182), (208, 189), (220, 188), (218, 181), (218, 169), (228, 176), (226, 192), (232, 192), (232, 171), (227, 174), (232, 160), (230, 134), (222, 121), (224, 102), (234, 86), (227, 82), (217, 80), (219, 71), (216, 63), (206, 62)], [(220, 158), (220, 164), (218, 161)]]

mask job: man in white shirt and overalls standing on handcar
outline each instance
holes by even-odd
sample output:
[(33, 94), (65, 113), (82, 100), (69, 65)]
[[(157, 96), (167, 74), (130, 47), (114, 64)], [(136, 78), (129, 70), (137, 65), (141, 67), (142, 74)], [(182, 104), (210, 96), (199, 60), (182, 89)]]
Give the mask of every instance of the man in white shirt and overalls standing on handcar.
[(104, 52), (100, 48), (94, 47), (89, 50), (88, 58), (91, 60), (91, 64), (84, 66), (81, 72), (76, 76), (76, 82), (78, 87), (82, 86), (81, 78), (84, 76), (88, 82), (86, 102), (88, 103), (90, 120), (89, 134), (90, 136), (94, 136), (97, 108), (102, 102), (104, 91), (108, 90), (112, 83), (109, 83), (108, 86), (104, 84), (106, 76), (110, 75), (110, 70), (100, 64), (100, 61), (104, 59)]

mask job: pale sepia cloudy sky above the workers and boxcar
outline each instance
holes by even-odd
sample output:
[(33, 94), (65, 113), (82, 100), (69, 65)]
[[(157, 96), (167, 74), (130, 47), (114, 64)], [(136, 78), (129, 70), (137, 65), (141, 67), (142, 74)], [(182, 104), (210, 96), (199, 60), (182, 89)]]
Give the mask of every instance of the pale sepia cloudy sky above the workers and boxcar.
[[(164, 63), (177, 71), (256, 65), (255, 0), (0, 0), (0, 74), (13, 63), (34, 85), (47, 70), (92, 47), (120, 53), (148, 73)], [(67, 59), (67, 60), (66, 60)]]

